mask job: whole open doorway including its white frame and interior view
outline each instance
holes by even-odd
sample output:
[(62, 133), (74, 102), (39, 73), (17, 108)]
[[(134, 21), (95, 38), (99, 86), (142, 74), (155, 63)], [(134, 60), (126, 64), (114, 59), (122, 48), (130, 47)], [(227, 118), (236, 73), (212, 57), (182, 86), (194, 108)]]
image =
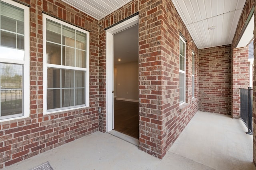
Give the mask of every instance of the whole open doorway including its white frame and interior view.
[(138, 139), (138, 16), (106, 30), (106, 111), (107, 132)]

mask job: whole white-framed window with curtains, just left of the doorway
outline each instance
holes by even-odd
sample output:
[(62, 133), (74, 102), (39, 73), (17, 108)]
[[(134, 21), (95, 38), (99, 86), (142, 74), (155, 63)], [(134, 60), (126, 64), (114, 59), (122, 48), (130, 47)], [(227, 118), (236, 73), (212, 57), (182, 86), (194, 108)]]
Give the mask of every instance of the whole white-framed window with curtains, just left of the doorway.
[(44, 15), (44, 114), (89, 105), (88, 31)]

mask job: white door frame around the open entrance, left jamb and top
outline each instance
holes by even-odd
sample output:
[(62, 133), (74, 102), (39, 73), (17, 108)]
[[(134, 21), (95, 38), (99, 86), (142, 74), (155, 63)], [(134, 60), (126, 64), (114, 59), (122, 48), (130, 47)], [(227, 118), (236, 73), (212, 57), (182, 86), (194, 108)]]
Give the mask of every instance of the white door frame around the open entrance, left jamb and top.
[(114, 83), (113, 83), (113, 34), (118, 33), (128, 27), (136, 25), (139, 16), (134, 16), (128, 20), (115, 25), (106, 30), (106, 130), (114, 129)]

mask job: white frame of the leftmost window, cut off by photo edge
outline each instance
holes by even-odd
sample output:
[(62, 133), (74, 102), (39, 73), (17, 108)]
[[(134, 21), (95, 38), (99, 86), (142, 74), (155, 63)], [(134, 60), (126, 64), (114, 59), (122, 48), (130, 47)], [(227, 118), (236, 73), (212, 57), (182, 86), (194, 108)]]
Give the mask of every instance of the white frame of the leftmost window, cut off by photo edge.
[[(30, 9), (28, 6), (22, 5), (15, 1), (10, 0), (0, 0), (2, 2), (5, 2), (7, 4), (16, 6), (18, 8), (21, 8), (24, 10), (24, 59), (18, 60), (18, 59), (6, 59), (1, 58), (0, 56), (0, 62), (2, 63), (9, 63), (9, 64), (22, 64), (24, 65), (24, 72), (23, 72), (23, 115), (18, 117), (12, 117), (12, 118), (6, 118), (6, 119), (0, 119), (0, 122), (3, 121), (10, 121), (15, 119), (22, 119), (25, 117), (29, 117), (30, 115)], [(0, 37), (1, 38), (1, 37)]]

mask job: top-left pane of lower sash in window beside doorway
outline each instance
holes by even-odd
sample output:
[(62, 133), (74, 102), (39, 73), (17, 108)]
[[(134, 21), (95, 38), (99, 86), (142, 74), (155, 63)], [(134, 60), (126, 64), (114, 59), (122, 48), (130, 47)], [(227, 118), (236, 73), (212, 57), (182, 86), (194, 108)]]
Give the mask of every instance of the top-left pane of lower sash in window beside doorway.
[(60, 88), (60, 69), (58, 68), (47, 69), (47, 87)]

